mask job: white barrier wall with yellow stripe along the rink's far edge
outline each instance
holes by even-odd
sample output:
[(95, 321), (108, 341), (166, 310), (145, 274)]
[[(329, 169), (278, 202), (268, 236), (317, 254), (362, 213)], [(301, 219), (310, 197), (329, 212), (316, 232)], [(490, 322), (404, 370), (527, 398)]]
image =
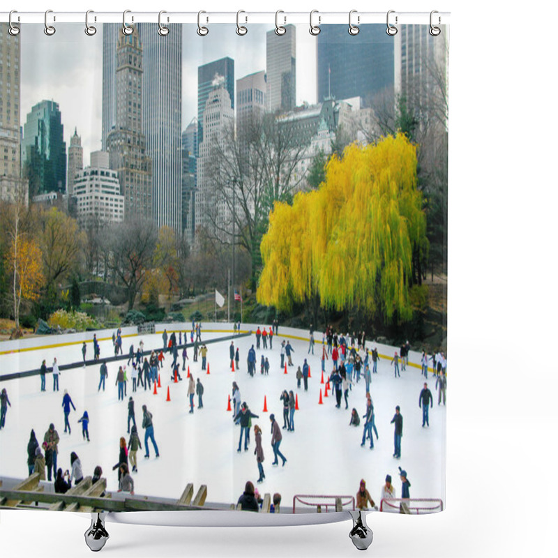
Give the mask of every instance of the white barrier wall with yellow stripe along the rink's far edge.
[[(183, 327), (182, 327), (183, 326)], [(246, 335), (250, 335), (250, 333), (252, 333), (253, 335), (255, 335), (255, 331), (257, 330), (258, 327), (262, 327), (261, 325), (258, 324), (242, 324), (242, 329), (240, 332), (240, 335), (242, 336), (246, 336)], [(175, 332), (178, 333), (179, 331), (182, 332), (186, 332), (186, 333), (190, 333), (191, 331), (191, 324), (188, 322), (167, 322), (167, 323), (160, 323), (160, 324), (155, 324), (155, 334), (156, 335), (163, 335), (163, 331), (167, 330), (167, 333), (170, 335), (171, 333)], [(269, 331), (269, 326), (266, 326), (266, 329), (268, 329)], [(58, 347), (68, 347), (70, 345), (81, 345), (84, 341), (85, 342), (92, 342), (93, 341), (93, 335), (97, 335), (97, 340), (98, 341), (108, 341), (111, 340), (112, 341), (112, 333), (116, 331), (114, 329), (99, 329), (96, 331), (82, 331), (80, 333), (67, 333), (67, 334), (52, 334), (52, 335), (41, 335), (40, 337), (36, 337), (36, 338), (27, 338), (27, 339), (17, 339), (17, 340), (10, 340), (10, 341), (0, 341), (0, 356), (5, 355), (5, 354), (14, 354), (14, 353), (20, 353), (20, 352), (27, 352), (27, 351), (36, 351), (36, 350), (43, 350), (43, 349), (56, 349)], [(107, 335), (107, 333), (110, 333), (110, 335)], [(204, 335), (208, 334), (208, 333), (225, 333), (225, 334), (230, 334), (232, 335), (232, 333), (234, 333), (234, 329), (232, 329), (232, 327), (230, 326), (229, 323), (225, 323), (225, 322), (202, 322), (202, 340), (204, 339)], [(127, 337), (134, 337), (140, 335), (139, 333), (137, 333), (137, 326), (130, 326), (130, 327), (124, 327), (122, 328), (122, 333), (121, 333), (121, 337), (122, 338), (127, 338)], [(236, 337), (239, 336), (239, 333), (236, 334)], [(281, 338), (281, 339), (292, 339), (292, 340), (299, 340), (299, 341), (306, 341), (306, 342), (310, 342), (310, 335), (303, 335), (301, 336), (301, 330), (300, 329), (296, 329), (296, 328), (289, 328), (289, 327), (285, 327), (285, 326), (280, 326), (280, 333), (276, 333), (273, 335), (274, 338)], [(316, 331), (315, 332), (315, 345), (322, 345), (322, 332), (321, 331)], [(56, 338), (64, 338), (65, 340), (63, 342), (46, 342), (47, 340), (52, 339), (54, 341), (54, 339)], [(231, 339), (234, 338), (234, 335), (232, 335)], [(319, 338), (319, 340), (317, 339)], [(228, 339), (228, 338), (227, 338)], [(220, 338), (219, 340), (224, 340), (223, 338)], [(204, 340), (203, 342), (209, 342), (210, 340)], [(277, 340), (276, 340), (277, 342)], [(368, 343), (370, 343), (370, 341), (367, 340)], [(280, 341), (279, 341), (280, 344)], [(193, 346), (191, 344), (187, 344), (186, 347), (190, 347)], [(278, 345), (279, 346), (279, 345)], [(376, 344), (376, 346), (379, 346), (379, 350), (386, 350), (386, 349), (391, 349), (392, 347), (390, 347), (389, 345), (379, 345)], [(183, 345), (180, 345), (180, 347), (183, 347)], [(109, 357), (109, 358), (105, 358), (103, 360), (110, 362), (110, 361), (116, 361), (119, 359), (122, 359), (123, 356), (126, 356), (126, 358), (128, 358), (128, 354), (126, 355), (121, 355), (119, 357)], [(380, 359), (389, 359), (391, 361), (391, 359), (393, 358), (392, 355), (389, 354), (384, 354), (383, 352), (379, 352), (378, 356)], [(421, 354), (416, 352), (416, 351), (411, 351), (409, 353), (409, 356), (411, 356), (412, 359), (419, 361), (421, 360)], [(91, 360), (91, 361), (86, 361), (87, 363), (91, 364), (91, 363), (95, 363), (95, 361)], [(80, 363), (78, 363), (80, 366), (83, 365), (82, 361), (80, 361)], [(414, 363), (414, 362), (410, 362), (409, 364), (407, 364), (407, 366), (410, 366), (412, 368), (418, 368), (418, 370), (421, 370), (421, 364), (420, 363)], [(75, 368), (74, 364), (69, 364), (69, 365), (60, 365), (60, 370), (68, 370), (68, 368)], [(48, 368), (48, 370), (52, 370), (52, 368)], [(38, 369), (37, 370), (32, 370), (30, 372), (33, 373), (38, 373)], [(434, 372), (434, 370), (432, 369), (432, 367), (428, 367), (428, 372)], [(20, 374), (26, 374), (26, 372), (20, 372)], [(18, 376), (18, 377), (23, 377), (23, 376)], [(2, 379), (3, 377), (0, 377), (0, 379)]]

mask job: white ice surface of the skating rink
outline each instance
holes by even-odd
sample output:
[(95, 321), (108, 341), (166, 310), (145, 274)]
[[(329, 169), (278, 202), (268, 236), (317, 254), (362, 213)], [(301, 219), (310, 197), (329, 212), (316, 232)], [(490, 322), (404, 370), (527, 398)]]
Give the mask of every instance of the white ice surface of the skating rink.
[[(185, 331), (190, 324), (169, 326), (168, 333), (179, 327)], [(244, 325), (243, 330), (257, 329), (257, 324)], [(224, 337), (232, 333), (232, 326), (220, 324), (220, 332), (211, 332), (215, 325), (206, 324), (202, 329), (202, 340)], [(229, 329), (229, 333), (225, 333)], [(136, 348), (140, 338), (144, 341), (144, 352), (148, 349), (162, 347), (163, 341), (158, 326), (156, 335), (126, 336), (123, 338), (123, 353), (128, 353), (130, 344)], [(283, 335), (285, 336), (283, 336)], [(88, 335), (88, 358), (93, 355), (91, 339)], [(114, 355), (112, 331), (99, 331), (100, 354)], [(177, 333), (178, 337), (178, 333)], [(374, 449), (368, 442), (361, 447), (363, 421), (359, 428), (349, 426), (351, 409), (355, 407), (361, 417), (365, 412), (365, 382), (361, 381), (349, 391), (349, 409), (345, 410), (342, 401), (340, 409), (335, 408), (335, 398), (329, 394), (324, 398), (324, 385), (320, 383), (322, 334), (315, 333), (318, 341), (315, 354), (308, 354), (308, 331), (279, 329), (279, 335), (273, 338), (273, 349), (257, 350), (257, 373), (250, 377), (247, 373), (246, 357), (248, 349), (255, 345), (255, 335), (234, 340), (234, 346), (240, 351), (240, 370), (229, 369), (230, 340), (207, 345), (209, 375), (202, 371), (202, 359), (193, 361), (193, 349), (188, 349), (190, 372), (195, 379), (200, 378), (204, 386), (204, 408), (189, 414), (186, 372), (183, 381), (172, 382), (170, 363), (172, 357), (165, 354), (161, 374), (161, 387), (158, 394), (145, 391), (141, 386), (136, 393), (128, 381), (127, 395), (123, 401), (117, 399), (116, 372), (119, 363), (109, 363), (109, 376), (105, 391), (98, 391), (100, 365), (81, 366), (73, 370), (63, 370), (60, 376), (60, 391), (52, 391), (52, 373), (47, 374), (47, 391), (40, 392), (40, 377), (2, 382), (6, 387), (12, 407), (8, 408), (6, 428), (0, 433), (0, 471), (3, 477), (25, 478), (27, 476), (27, 442), (31, 428), (42, 442), (43, 436), (52, 422), (60, 435), (58, 467), (70, 469), (70, 453), (75, 451), (80, 457), (84, 475), (93, 474), (96, 465), (103, 468), (107, 478), (107, 489), (118, 488), (117, 472), (112, 466), (119, 460), (119, 439), (128, 442), (127, 417), (128, 398), (135, 400), (135, 416), (138, 432), (144, 445), (142, 425), (142, 405), (147, 405), (153, 414), (153, 427), (160, 458), (156, 459), (153, 448), (151, 458), (144, 458), (144, 451), (138, 451), (138, 472), (133, 475), (137, 495), (161, 496), (179, 499), (188, 483), (193, 483), (196, 491), (199, 485), (208, 487), (207, 502), (236, 504), (243, 492), (246, 481), (256, 485), (258, 470), (254, 455), (255, 442), (253, 430), (250, 432), (248, 451), (237, 453), (240, 427), (234, 425), (232, 412), (227, 412), (228, 396), (232, 394), (232, 382), (239, 384), (241, 400), (246, 401), (250, 410), (259, 415), (252, 418), (253, 425), (262, 428), (262, 446), (264, 448), (264, 471), (266, 478), (261, 485), (256, 485), (259, 492), (279, 492), (282, 495), (282, 508), (292, 508), (294, 495), (338, 495), (354, 496), (359, 489), (359, 482), (364, 478), (370, 495), (379, 506), (380, 491), (386, 474), (391, 474), (393, 484), (399, 497), (401, 482), (398, 466), (407, 470), (411, 483), (411, 497), (444, 497), (445, 476), (445, 436), (446, 407), (437, 405), (435, 378), (429, 372), (428, 387), (434, 395), (434, 407), (430, 409), (430, 428), (422, 428), (422, 410), (418, 405), (418, 395), (423, 387), (420, 368), (410, 366), (401, 372), (400, 378), (394, 378), (393, 366), (390, 365), (394, 347), (375, 345), (367, 342), (367, 348), (377, 346), (381, 360), (378, 373), (372, 375), (371, 394), (375, 406), (375, 423), (379, 440), (375, 440)], [(287, 368), (287, 375), (280, 368), (280, 342), (288, 339), (294, 347), (294, 366)], [(188, 339), (189, 341), (189, 339)], [(60, 344), (64, 338), (60, 335), (44, 338), (44, 344)], [(38, 368), (43, 359), (52, 365), (54, 357), (59, 365), (82, 360), (81, 342), (75, 344), (40, 350), (31, 350), (1, 356), (1, 373), (30, 370)], [(180, 351), (181, 353), (181, 351)], [(269, 376), (259, 373), (259, 361), (264, 354), (269, 359)], [(363, 356), (363, 352), (361, 352)], [(297, 389), (295, 372), (303, 359), (308, 359), (311, 378), (308, 392)], [(180, 358), (181, 361), (181, 358)], [(412, 352), (409, 363), (419, 363), (420, 353)], [(126, 360), (120, 361), (126, 364)], [(331, 356), (326, 361), (326, 373), (332, 370)], [(128, 366), (128, 371), (131, 366)], [(130, 375), (128, 374), (128, 379)], [(450, 374), (451, 382), (451, 374)], [(167, 387), (170, 401), (167, 401)], [(282, 390), (293, 390), (298, 395), (299, 411), (294, 414), (295, 431), (282, 430), (283, 440), (280, 451), (287, 458), (285, 467), (273, 467), (271, 448), (270, 414), (275, 414), (279, 425), (282, 421)], [(71, 435), (63, 432), (62, 397), (68, 390), (76, 407), (70, 413)], [(319, 405), (322, 390), (323, 405)], [(264, 412), (264, 398), (268, 412)], [(390, 423), (395, 413), (395, 405), (400, 405), (403, 421), (402, 456), (393, 458), (393, 425)], [(89, 413), (89, 437), (91, 442), (82, 439), (82, 428), (77, 423), (86, 410)], [(297, 510), (299, 508), (297, 507)]]

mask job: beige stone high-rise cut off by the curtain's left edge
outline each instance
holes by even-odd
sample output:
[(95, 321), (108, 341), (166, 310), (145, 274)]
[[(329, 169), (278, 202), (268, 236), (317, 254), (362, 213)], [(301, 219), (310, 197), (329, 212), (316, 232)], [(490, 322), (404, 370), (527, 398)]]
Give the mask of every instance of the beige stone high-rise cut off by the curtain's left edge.
[(20, 36), (11, 36), (0, 23), (0, 199), (13, 200), (21, 180)]

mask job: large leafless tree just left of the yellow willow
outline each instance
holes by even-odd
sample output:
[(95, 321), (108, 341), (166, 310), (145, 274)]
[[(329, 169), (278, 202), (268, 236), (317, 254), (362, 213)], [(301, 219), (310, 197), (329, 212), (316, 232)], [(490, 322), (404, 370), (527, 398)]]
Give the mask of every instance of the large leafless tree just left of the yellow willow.
[(202, 208), (211, 226), (208, 236), (223, 244), (234, 242), (252, 259), (252, 282), (261, 266), (259, 243), (275, 202), (289, 202), (302, 176), (296, 166), (306, 146), (296, 128), (273, 114), (243, 119), (225, 128), (224, 141), (215, 141), (206, 169), (211, 193)]

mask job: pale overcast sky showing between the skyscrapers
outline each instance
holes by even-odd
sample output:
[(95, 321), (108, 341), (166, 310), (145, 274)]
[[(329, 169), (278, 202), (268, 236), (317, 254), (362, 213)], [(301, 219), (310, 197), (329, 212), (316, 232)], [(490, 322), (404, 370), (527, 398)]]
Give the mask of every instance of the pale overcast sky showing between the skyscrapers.
[[(26, 24), (21, 33), (21, 119), (22, 126), (31, 107), (41, 100), (59, 103), (66, 146), (77, 128), (84, 147), (84, 166), (89, 153), (100, 149), (103, 86), (103, 33), (84, 33), (83, 24), (59, 24), (53, 36), (46, 36), (43, 25)], [(230, 56), (234, 77), (266, 69), (266, 25), (250, 25), (239, 37), (234, 25), (210, 27), (199, 37), (196, 26), (184, 24), (182, 68), (182, 128), (197, 116), (197, 67)], [(162, 38), (161, 40), (164, 40)], [(296, 32), (296, 98), (315, 103), (316, 38), (308, 26)]]

